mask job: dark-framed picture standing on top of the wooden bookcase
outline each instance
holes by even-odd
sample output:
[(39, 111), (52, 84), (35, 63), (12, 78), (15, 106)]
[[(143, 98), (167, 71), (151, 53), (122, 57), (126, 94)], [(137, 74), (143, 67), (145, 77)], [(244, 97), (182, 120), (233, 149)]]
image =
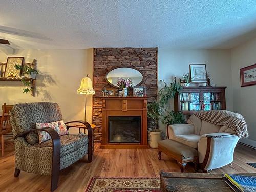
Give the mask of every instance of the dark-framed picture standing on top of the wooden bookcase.
[(189, 73), (191, 77), (191, 82), (193, 83), (207, 82), (207, 77), (206, 77), (207, 71), (206, 71), (205, 64), (190, 64)]

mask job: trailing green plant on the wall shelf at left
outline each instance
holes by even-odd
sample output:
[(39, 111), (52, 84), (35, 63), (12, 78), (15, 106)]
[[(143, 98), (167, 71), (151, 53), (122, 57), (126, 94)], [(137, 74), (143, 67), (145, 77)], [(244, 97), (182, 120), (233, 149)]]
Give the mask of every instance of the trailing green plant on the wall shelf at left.
[[(20, 69), (23, 71), (23, 73), (27, 74), (29, 76), (30, 79), (35, 79), (36, 78), (36, 75), (39, 74), (39, 71), (36, 70), (36, 69), (33, 69), (29, 66), (21, 66), (21, 65), (15, 65), (14, 68), (16, 69)], [(31, 81), (26, 81), (26, 79), (23, 77), (22, 80), (23, 84), (25, 86), (28, 86), (27, 88), (23, 89), (23, 93), (28, 93), (30, 91), (32, 91), (33, 87), (32, 87), (32, 84), (31, 84)]]

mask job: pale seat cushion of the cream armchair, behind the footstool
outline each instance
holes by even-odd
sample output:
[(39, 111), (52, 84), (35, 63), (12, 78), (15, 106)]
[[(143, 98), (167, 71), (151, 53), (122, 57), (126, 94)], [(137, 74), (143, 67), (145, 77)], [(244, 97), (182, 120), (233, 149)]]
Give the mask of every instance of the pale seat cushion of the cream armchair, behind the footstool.
[(195, 134), (176, 135), (174, 137), (175, 141), (178, 141), (180, 143), (183, 143), (183, 144), (193, 147), (193, 148), (198, 147), (199, 139), (200, 139), (200, 135), (195, 135)]

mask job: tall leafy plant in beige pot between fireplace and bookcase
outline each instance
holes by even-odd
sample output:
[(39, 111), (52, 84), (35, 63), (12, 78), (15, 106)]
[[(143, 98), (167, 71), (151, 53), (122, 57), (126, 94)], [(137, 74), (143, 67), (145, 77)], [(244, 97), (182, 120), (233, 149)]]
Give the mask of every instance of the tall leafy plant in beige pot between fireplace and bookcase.
[(176, 93), (180, 93), (182, 86), (179, 83), (166, 84), (158, 92), (158, 101), (153, 101), (147, 105), (147, 116), (151, 118), (153, 129), (148, 130), (149, 144), (151, 148), (157, 148), (158, 141), (161, 140), (162, 130), (158, 129), (158, 122), (164, 124), (183, 123), (184, 117), (181, 112), (169, 111), (166, 107), (171, 98), (174, 98)]

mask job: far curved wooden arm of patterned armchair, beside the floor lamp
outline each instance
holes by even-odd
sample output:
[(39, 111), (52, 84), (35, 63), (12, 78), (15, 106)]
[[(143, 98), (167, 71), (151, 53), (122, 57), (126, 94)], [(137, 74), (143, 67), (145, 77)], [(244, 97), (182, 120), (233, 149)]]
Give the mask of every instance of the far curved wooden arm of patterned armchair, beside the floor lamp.
[[(72, 127), (72, 125), (68, 125), (70, 123), (81, 123), (85, 126), (85, 127), (82, 127), (82, 128), (87, 129), (87, 131), (88, 131), (88, 140), (89, 140), (89, 142), (88, 142), (88, 161), (89, 161), (89, 163), (92, 162), (92, 158), (93, 158), (93, 130), (92, 130), (91, 125), (87, 121), (83, 121), (83, 120), (69, 121), (69, 122), (65, 123), (67, 129)], [(76, 127), (76, 128), (79, 128), (79, 127)], [(81, 127), (79, 129), (81, 129)]]

